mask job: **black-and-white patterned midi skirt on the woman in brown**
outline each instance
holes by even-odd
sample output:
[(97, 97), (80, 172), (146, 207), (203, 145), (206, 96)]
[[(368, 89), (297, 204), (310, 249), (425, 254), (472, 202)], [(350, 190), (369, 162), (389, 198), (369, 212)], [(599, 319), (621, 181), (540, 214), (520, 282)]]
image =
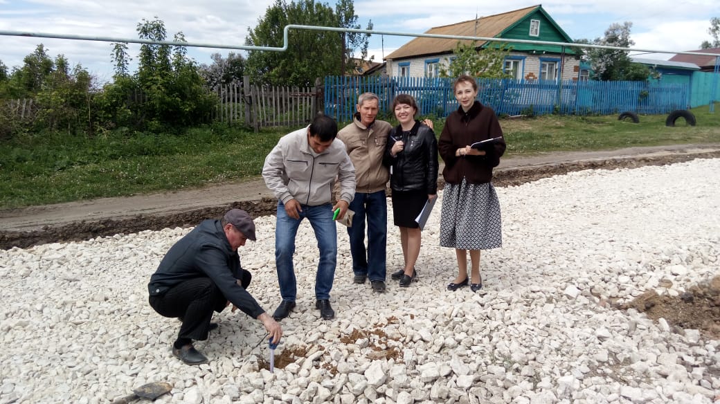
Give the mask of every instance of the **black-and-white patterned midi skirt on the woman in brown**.
[(440, 214), (440, 245), (456, 249), (503, 246), (500, 201), (492, 183), (445, 184)]

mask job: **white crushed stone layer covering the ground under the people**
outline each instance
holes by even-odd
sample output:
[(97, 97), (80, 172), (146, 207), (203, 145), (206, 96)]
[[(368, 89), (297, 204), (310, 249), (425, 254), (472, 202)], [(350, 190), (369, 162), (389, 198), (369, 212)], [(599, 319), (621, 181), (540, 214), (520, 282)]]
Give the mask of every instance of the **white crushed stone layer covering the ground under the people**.
[[(452, 249), (438, 247), (440, 203), (423, 232), (419, 282), (405, 289), (388, 278), (384, 295), (352, 284), (338, 226), (333, 321), (314, 308), (317, 247), (302, 224), (297, 308), (282, 321), (277, 354), (304, 348), (307, 359), (274, 374), (258, 370), (266, 344), (251, 349), (261, 323), (240, 312), (217, 315), (220, 329), (196, 344), (210, 364), (172, 357), (179, 322), (148, 306), (146, 284), (189, 229), (0, 251), (0, 403), (107, 403), (155, 381), (174, 385), (160, 404), (719, 398), (719, 341), (603, 303), (648, 289), (679, 295), (719, 275), (720, 160), (586, 170), (498, 194), (504, 245), (483, 253), (478, 294), (445, 289), (456, 264)], [(388, 222), (392, 272), (402, 251)], [(271, 313), (280, 301), (274, 218), (256, 225), (258, 241), (240, 256), (253, 272), (251, 293)], [(370, 332), (341, 342), (356, 329)]]

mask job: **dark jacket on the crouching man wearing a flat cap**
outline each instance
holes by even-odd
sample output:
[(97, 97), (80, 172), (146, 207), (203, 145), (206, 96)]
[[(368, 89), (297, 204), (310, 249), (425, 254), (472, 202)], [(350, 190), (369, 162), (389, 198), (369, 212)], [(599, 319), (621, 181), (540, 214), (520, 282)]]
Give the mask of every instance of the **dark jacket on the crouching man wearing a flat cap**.
[(158, 270), (150, 277), (148, 292), (163, 295), (179, 283), (210, 277), (222, 295), (243, 313), (257, 318), (265, 311), (236, 280), (243, 279), (240, 256), (233, 251), (219, 220), (204, 220), (170, 247)]

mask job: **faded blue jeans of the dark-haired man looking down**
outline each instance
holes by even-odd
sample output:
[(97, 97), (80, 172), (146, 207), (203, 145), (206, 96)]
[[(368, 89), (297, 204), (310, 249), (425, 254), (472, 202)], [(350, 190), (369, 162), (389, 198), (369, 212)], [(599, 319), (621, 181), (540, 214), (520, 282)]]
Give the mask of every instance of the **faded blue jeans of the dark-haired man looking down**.
[(315, 298), (329, 299), (333, 288), (335, 267), (338, 262), (338, 230), (333, 221), (333, 206), (325, 203), (319, 206), (302, 205), (300, 219), (287, 216), (282, 202), (277, 204), (277, 226), (275, 228), (275, 265), (282, 300), (294, 302), (297, 298), (297, 279), (292, 265), (295, 253), (295, 236), (302, 219), (307, 218), (315, 231), (320, 249), (318, 273), (315, 275)]

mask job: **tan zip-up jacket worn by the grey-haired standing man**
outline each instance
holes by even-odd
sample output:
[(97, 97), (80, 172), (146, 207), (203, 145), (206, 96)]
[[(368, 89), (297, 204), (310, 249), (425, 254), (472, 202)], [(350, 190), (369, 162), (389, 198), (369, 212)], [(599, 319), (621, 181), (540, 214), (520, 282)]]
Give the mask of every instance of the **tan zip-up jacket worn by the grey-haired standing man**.
[(390, 173), (382, 165), (382, 154), (390, 129), (392, 126), (386, 121), (377, 120), (365, 127), (360, 123), (360, 115), (355, 114), (353, 123), (338, 132), (338, 139), (345, 143), (355, 166), (355, 192), (373, 193), (385, 189)]

